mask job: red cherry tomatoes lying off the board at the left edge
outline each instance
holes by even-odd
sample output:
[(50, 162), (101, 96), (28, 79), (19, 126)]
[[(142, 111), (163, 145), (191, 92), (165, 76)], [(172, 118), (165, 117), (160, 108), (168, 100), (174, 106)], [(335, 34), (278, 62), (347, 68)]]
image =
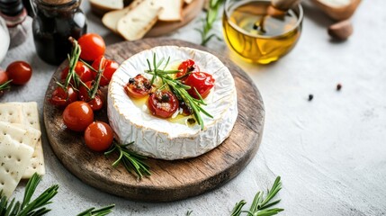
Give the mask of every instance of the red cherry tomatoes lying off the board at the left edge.
[(10, 89), (10, 85), (24, 85), (30, 81), (32, 67), (24, 61), (14, 61), (6, 70), (0, 69), (0, 96), (5, 90)]

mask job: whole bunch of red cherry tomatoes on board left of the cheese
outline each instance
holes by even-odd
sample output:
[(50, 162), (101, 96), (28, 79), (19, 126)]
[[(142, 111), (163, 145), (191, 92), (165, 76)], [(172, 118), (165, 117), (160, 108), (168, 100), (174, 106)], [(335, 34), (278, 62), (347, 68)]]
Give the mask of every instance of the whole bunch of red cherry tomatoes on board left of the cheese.
[(103, 56), (105, 44), (97, 34), (83, 35), (74, 46), (80, 47), (78, 56), (83, 61), (73, 61), (73, 71), (70, 66), (62, 70), (61, 82), (48, 100), (64, 108), (63, 121), (67, 129), (84, 132), (85, 145), (103, 151), (112, 145), (112, 128), (105, 122), (94, 121), (94, 112), (103, 108), (101, 87), (110, 83), (119, 65)]

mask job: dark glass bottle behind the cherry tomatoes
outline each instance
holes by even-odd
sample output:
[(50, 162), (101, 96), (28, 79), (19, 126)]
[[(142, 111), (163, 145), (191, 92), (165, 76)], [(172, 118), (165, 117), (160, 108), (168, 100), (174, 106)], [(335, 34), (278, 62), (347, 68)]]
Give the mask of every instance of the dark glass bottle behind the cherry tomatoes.
[(41, 59), (58, 65), (67, 58), (72, 44), (87, 31), (80, 0), (34, 0), (33, 40)]

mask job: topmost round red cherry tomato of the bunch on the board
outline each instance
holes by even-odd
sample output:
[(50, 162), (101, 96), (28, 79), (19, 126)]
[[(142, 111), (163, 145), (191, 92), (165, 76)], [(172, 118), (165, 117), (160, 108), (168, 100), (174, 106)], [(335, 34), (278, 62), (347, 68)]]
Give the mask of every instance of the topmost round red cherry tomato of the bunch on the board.
[(106, 45), (103, 38), (96, 33), (87, 33), (77, 40), (80, 48), (80, 58), (87, 61), (94, 61), (94, 59), (102, 56)]

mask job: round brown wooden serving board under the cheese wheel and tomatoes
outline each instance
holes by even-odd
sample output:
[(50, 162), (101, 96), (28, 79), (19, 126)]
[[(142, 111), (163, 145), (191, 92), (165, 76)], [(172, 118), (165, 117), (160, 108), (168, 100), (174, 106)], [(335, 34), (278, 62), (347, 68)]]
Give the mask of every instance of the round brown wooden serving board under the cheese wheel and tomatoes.
[[(113, 168), (117, 156), (104, 157), (85, 147), (82, 133), (67, 130), (62, 121), (62, 110), (44, 103), (44, 123), (51, 148), (64, 166), (86, 184), (104, 192), (132, 200), (169, 202), (207, 192), (225, 184), (238, 175), (255, 156), (262, 139), (265, 110), (256, 85), (247, 74), (229, 58), (221, 57), (202, 46), (182, 40), (145, 39), (126, 41), (109, 46), (106, 56), (119, 63), (144, 49), (162, 45), (176, 45), (209, 51), (229, 67), (238, 91), (238, 120), (218, 148), (200, 156), (184, 160), (166, 161), (148, 158), (152, 175), (137, 180), (123, 166)], [(55, 87), (63, 63), (53, 75), (46, 96)], [(106, 110), (96, 113), (95, 119), (107, 121)]]

